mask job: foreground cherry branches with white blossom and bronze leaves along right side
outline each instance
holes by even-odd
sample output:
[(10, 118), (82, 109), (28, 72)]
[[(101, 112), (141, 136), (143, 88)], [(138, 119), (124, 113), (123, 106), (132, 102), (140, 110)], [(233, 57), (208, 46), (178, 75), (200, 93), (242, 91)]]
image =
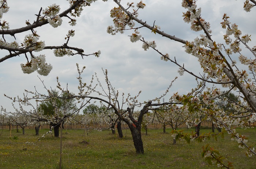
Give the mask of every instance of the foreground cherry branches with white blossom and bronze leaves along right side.
[[(240, 147), (247, 149), (246, 155), (256, 155), (254, 148), (248, 146), (246, 144), (247, 140), (239, 135), (235, 128), (232, 127), (249, 127), (248, 122), (254, 122), (256, 120), (256, 78), (255, 59), (253, 59), (256, 57), (256, 46), (251, 47), (248, 45), (248, 42), (251, 41), (251, 35), (246, 32), (242, 34), (238, 24), (231, 23), (228, 14), (223, 14), (223, 22), (220, 26), (226, 30), (226, 33), (223, 34), (225, 44), (214, 41), (210, 23), (201, 15), (202, 9), (197, 7), (196, 0), (182, 0), (181, 5), (187, 10), (183, 12), (184, 22), (191, 24), (192, 31), (201, 32), (199, 36), (195, 37), (194, 41), (189, 42), (161, 31), (161, 26), (155, 25), (155, 22), (150, 25), (148, 24), (150, 22), (140, 19), (139, 11), (146, 7), (146, 4), (142, 1), (137, 4), (125, 3), (125, 5), (122, 1), (114, 0), (114, 2), (117, 4), (117, 7), (114, 7), (110, 11), (114, 26), (107, 28), (109, 34), (115, 35), (118, 32), (123, 33), (124, 31), (132, 30), (133, 32), (130, 35), (131, 42), (142, 41), (142, 48), (144, 50), (151, 48), (158, 53), (164, 61), (170, 61), (177, 65), (178, 73), (181, 76), (184, 73), (189, 73), (207, 82), (208, 85), (215, 84), (219, 85), (219, 88), (223, 87), (228, 88), (229, 91), (237, 91), (238, 95), (240, 95), (244, 103), (246, 103), (245, 105), (237, 103), (238, 106), (248, 110), (244, 114), (235, 113), (226, 115), (223, 110), (216, 107), (214, 99), (221, 95), (221, 90), (217, 87), (205, 91), (202, 100), (198, 97), (188, 98), (187, 95), (182, 96), (178, 93), (173, 95), (173, 99), (177, 101), (177, 103), (185, 103), (188, 106), (188, 110), (192, 113), (196, 112), (207, 116), (206, 118), (212, 118), (219, 127), (225, 128), (225, 130), (234, 137)], [(250, 12), (255, 5), (255, 0), (246, 0), (243, 7), (246, 12)], [(139, 30), (144, 31), (145, 28), (171, 41), (184, 44), (185, 52), (198, 59), (202, 72), (206, 73), (207, 76), (196, 75), (188, 70), (185, 65), (179, 63), (176, 58), (171, 58), (169, 54), (164, 54), (159, 51), (156, 41), (147, 41), (146, 38), (143, 38), (143, 34), (139, 32)], [(242, 53), (242, 45), (245, 46), (245, 50), (248, 50), (251, 55), (250, 53), (247, 54), (245, 50), (243, 50), (243, 52), (248, 56)], [(238, 62), (240, 64), (238, 64)], [(202, 107), (200, 103), (206, 104), (207, 108)], [(241, 118), (244, 119), (241, 120)], [(209, 161), (214, 161), (216, 165), (226, 168), (231, 167), (229, 166), (230, 164), (225, 165), (221, 161), (218, 161), (216, 155), (209, 147), (204, 149), (204, 152), (204, 157), (207, 159), (210, 157)]]

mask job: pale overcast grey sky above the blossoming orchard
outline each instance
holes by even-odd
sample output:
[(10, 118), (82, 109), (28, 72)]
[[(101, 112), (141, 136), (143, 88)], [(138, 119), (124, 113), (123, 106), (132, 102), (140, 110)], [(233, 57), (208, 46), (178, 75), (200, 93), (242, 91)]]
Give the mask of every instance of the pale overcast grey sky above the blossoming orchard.
[[(122, 0), (121, 4), (126, 6), (130, 0)], [(139, 0), (133, 0), (136, 4)], [(60, 5), (61, 11), (69, 7), (68, 1), (64, 0), (7, 0), (10, 10), (4, 14), (2, 20), (6, 20), (10, 24), (10, 29), (24, 27), (26, 20), (33, 23), (36, 19), (40, 7), (45, 9), (54, 3)], [(197, 36), (203, 34), (202, 31), (193, 32), (190, 24), (182, 19), (182, 12), (185, 9), (181, 7), (181, 0), (143, 0), (146, 4), (144, 9), (139, 10), (139, 19), (147, 21), (147, 24), (161, 27), (161, 30), (175, 37), (193, 41)], [(211, 24), (212, 39), (218, 43), (224, 43), (223, 35), (225, 30), (221, 27), (222, 16), (226, 13), (230, 16), (230, 22), (236, 23), (242, 34), (252, 35), (252, 42), (248, 43), (251, 47), (255, 46), (255, 16), (256, 8), (252, 8), (251, 12), (243, 10), (243, 0), (198, 0), (197, 7), (202, 8), (201, 17)], [(88, 57), (80, 57), (79, 55), (55, 57), (53, 50), (43, 50), (34, 52), (34, 55), (45, 54), (46, 62), (53, 66), (48, 76), (41, 76), (37, 72), (24, 74), (20, 68), (20, 64), (26, 63), (24, 55), (10, 58), (0, 63), (0, 101), (7, 111), (13, 111), (12, 101), (4, 94), (10, 97), (22, 96), (24, 89), (34, 91), (34, 87), (39, 92), (46, 93), (42, 81), (46, 88), (56, 88), (56, 77), (62, 86), (68, 83), (69, 91), (77, 93), (78, 76), (76, 63), (80, 68), (86, 66), (86, 70), (82, 74), (83, 81), (89, 83), (91, 76), (97, 73), (99, 80), (104, 83), (105, 77), (102, 69), (108, 70), (109, 80), (112, 86), (119, 93), (128, 93), (135, 96), (142, 91), (138, 100), (147, 101), (161, 96), (165, 93), (171, 81), (177, 76), (177, 80), (173, 83), (170, 92), (164, 97), (165, 101), (169, 100), (173, 93), (179, 92), (181, 95), (186, 94), (191, 88), (196, 87), (195, 78), (188, 73), (180, 76), (177, 73), (178, 67), (171, 62), (165, 62), (160, 59), (160, 55), (153, 49), (144, 51), (142, 42), (132, 43), (129, 35), (132, 30), (125, 31), (124, 34), (110, 35), (106, 32), (109, 25), (113, 25), (110, 18), (110, 10), (117, 7), (112, 0), (103, 2), (101, 0), (92, 3), (90, 7), (84, 8), (82, 14), (77, 19), (76, 26), (69, 26), (68, 19), (63, 18), (60, 27), (53, 28), (49, 24), (35, 28), (41, 36), (40, 40), (45, 41), (46, 46), (60, 46), (65, 43), (65, 36), (68, 30), (75, 30), (75, 36), (69, 40), (68, 45), (84, 49), (85, 54), (91, 54), (101, 50), (99, 58), (91, 55)], [(136, 26), (140, 26), (136, 24)], [(176, 60), (190, 70), (199, 75), (202, 73), (197, 59), (192, 55), (185, 53), (183, 45), (179, 42), (172, 41), (160, 35), (151, 33), (150, 30), (142, 28), (139, 30), (142, 37), (146, 41), (155, 41), (157, 49), (162, 53), (168, 53), (170, 58)], [(25, 35), (31, 34), (31, 31), (16, 34), (16, 41), (22, 43)], [(14, 38), (5, 35), (4, 38), (8, 42), (14, 41)], [(248, 52), (245, 55), (251, 57)], [(1, 57), (7, 55), (8, 52), (1, 50)], [(234, 55), (234, 58), (237, 57)], [(39, 79), (40, 78), (40, 79)], [(121, 98), (120, 98), (121, 99)]]

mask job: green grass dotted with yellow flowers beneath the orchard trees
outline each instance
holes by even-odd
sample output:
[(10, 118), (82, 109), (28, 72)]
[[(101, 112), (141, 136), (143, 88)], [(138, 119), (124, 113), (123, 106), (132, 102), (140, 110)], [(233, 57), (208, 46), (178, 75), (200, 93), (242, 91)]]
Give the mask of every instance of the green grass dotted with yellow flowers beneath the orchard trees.
[[(256, 129), (237, 129), (239, 133), (249, 137), (248, 145), (256, 146)], [(39, 133), (46, 133), (42, 129)], [(161, 168), (161, 169), (214, 169), (201, 157), (202, 146), (210, 144), (220, 151), (237, 169), (254, 169), (256, 157), (248, 158), (245, 150), (239, 149), (238, 144), (231, 141), (230, 135), (225, 138), (206, 140), (205, 142), (177, 141), (172, 145), (170, 129), (163, 133), (161, 129), (148, 130), (148, 135), (142, 131), (144, 154), (136, 154), (132, 136), (127, 131), (126, 137), (120, 139), (111, 131), (92, 131), (84, 135), (84, 130), (68, 130), (63, 134), (63, 169), (123, 169), (123, 168)], [(210, 129), (201, 129), (210, 132)], [(4, 130), (0, 136), (0, 168), (1, 169), (57, 169), (59, 168), (60, 138), (46, 135), (35, 145), (39, 138), (34, 130), (21, 132)], [(65, 131), (64, 131), (65, 132)], [(64, 133), (63, 132), (63, 133)], [(125, 135), (126, 130), (123, 130)], [(252, 140), (252, 141), (251, 141)]]

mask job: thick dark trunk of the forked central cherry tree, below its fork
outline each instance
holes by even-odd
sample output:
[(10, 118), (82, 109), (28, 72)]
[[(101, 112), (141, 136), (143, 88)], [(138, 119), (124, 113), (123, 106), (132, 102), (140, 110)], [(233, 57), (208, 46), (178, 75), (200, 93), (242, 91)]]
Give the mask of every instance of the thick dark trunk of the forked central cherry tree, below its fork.
[(132, 133), (132, 139), (133, 143), (136, 149), (137, 154), (144, 154), (144, 149), (143, 149), (143, 142), (141, 138), (141, 126), (135, 127), (131, 126), (130, 127), (131, 133)]

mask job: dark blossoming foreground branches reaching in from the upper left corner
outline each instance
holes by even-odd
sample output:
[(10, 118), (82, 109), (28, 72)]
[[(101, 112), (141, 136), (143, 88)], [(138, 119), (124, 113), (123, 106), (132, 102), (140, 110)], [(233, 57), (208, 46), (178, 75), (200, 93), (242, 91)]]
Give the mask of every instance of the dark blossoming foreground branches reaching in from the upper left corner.
[[(26, 20), (24, 26), (16, 29), (10, 29), (9, 22), (4, 20), (4, 14), (6, 14), (10, 7), (8, 6), (8, 0), (0, 1), (0, 49), (7, 51), (8, 55), (0, 58), (0, 62), (7, 59), (24, 56), (25, 64), (20, 64), (23, 73), (30, 74), (37, 70), (37, 73), (43, 76), (47, 76), (52, 70), (52, 65), (46, 62), (45, 54), (42, 54), (42, 50), (53, 49), (53, 53), (56, 57), (63, 57), (64, 55), (80, 55), (84, 56), (95, 55), (99, 57), (101, 51), (98, 50), (91, 54), (84, 54), (83, 49), (79, 49), (74, 46), (69, 46), (68, 42), (70, 38), (74, 37), (75, 30), (69, 30), (63, 45), (47, 46), (45, 41), (40, 40), (40, 33), (37, 32), (36, 28), (41, 26), (50, 25), (54, 28), (60, 27), (63, 22), (63, 17), (68, 18), (70, 26), (76, 25), (76, 17), (79, 17), (84, 7), (89, 7), (91, 3), (96, 0), (69, 0), (69, 8), (61, 10), (60, 5), (52, 4), (46, 8), (40, 8), (38, 13), (35, 14), (35, 20), (30, 23)], [(103, 0), (107, 1), (107, 0)], [(24, 37), (23, 42), (19, 42), (16, 39), (16, 35), (26, 32), (27, 35)], [(8, 37), (7, 37), (8, 36)], [(13, 41), (7, 41), (10, 37)], [(41, 53), (41, 54), (37, 54)]]

